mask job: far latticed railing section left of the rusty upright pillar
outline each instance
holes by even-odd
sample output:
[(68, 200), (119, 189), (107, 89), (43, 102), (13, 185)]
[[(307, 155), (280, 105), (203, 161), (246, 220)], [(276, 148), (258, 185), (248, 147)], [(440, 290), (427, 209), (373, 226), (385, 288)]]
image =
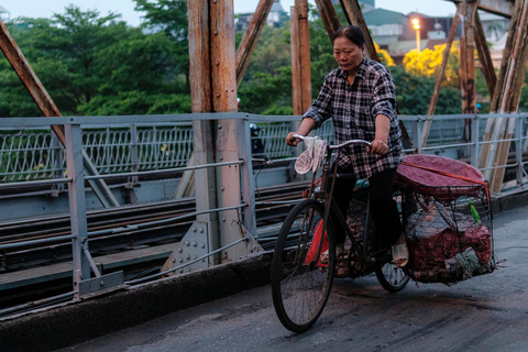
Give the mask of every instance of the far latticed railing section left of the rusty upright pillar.
[[(179, 167), (193, 154), (193, 125), (85, 125), (82, 146), (100, 174)], [(53, 179), (66, 170), (51, 128), (0, 130), (0, 182)]]

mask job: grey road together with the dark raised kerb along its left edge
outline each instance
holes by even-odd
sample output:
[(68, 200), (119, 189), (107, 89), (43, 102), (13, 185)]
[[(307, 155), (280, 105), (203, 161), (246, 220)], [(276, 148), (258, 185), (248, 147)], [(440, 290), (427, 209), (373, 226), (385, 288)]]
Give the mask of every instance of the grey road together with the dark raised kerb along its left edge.
[(494, 199), (496, 272), (397, 294), (340, 279), (302, 334), (275, 316), (264, 256), (1, 321), (0, 351), (528, 351), (527, 204)]

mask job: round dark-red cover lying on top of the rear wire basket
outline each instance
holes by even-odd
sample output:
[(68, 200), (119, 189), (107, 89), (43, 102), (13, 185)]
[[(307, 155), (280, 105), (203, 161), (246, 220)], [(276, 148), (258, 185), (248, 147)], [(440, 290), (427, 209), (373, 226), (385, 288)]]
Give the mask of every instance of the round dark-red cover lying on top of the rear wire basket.
[[(446, 200), (476, 196), (484, 183), (482, 173), (466, 163), (421, 154), (404, 156), (395, 179), (415, 191)], [(451, 187), (449, 193), (444, 193), (444, 187)]]

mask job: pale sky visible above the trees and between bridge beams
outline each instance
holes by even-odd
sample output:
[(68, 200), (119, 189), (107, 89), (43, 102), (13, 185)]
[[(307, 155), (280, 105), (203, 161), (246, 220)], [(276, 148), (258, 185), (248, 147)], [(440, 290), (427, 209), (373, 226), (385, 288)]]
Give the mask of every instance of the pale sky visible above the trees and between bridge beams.
[[(315, 0), (308, 0), (315, 4)], [(28, 18), (51, 18), (54, 13), (63, 13), (64, 8), (73, 3), (82, 10), (98, 10), (101, 15), (109, 12), (120, 13), (122, 20), (130, 25), (141, 23), (141, 13), (134, 11), (133, 0), (0, 0), (0, 6), (6, 8), (11, 19), (18, 16)], [(258, 0), (234, 0), (234, 12), (253, 12)], [(283, 8), (289, 12), (295, 0), (280, 0)], [(407, 14), (418, 11), (428, 15), (453, 15), (455, 7), (451, 1), (446, 0), (376, 0), (376, 8)]]

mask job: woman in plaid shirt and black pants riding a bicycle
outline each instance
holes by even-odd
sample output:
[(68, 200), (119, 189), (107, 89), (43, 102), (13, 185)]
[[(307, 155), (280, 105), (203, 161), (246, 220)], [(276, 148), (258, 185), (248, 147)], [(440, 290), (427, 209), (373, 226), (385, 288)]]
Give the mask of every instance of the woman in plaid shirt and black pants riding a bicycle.
[[(399, 267), (408, 262), (398, 209), (393, 199), (393, 182), (402, 163), (402, 131), (396, 117), (396, 91), (391, 73), (364, 57), (365, 37), (360, 28), (346, 25), (332, 37), (339, 68), (324, 78), (319, 96), (302, 117), (297, 132), (286, 143), (297, 145), (293, 134), (308, 135), (332, 118), (336, 142), (372, 141), (372, 147), (352, 146), (340, 154), (338, 173), (351, 173), (353, 179), (336, 180), (333, 197), (346, 215), (358, 179), (369, 179), (370, 207), (376, 232), (385, 246), (392, 246), (393, 261)], [(333, 223), (339, 223), (333, 221)], [(336, 229), (338, 254), (344, 253), (344, 229)]]

